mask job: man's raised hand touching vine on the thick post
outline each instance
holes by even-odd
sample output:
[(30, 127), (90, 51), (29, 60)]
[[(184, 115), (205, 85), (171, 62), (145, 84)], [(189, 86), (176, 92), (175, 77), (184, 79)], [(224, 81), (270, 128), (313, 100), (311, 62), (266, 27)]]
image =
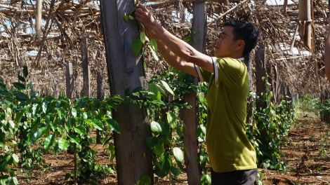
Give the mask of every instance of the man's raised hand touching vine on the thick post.
[(147, 29), (152, 29), (152, 26), (157, 25), (152, 13), (150, 13), (145, 6), (140, 4), (136, 8), (136, 20), (138, 20)]

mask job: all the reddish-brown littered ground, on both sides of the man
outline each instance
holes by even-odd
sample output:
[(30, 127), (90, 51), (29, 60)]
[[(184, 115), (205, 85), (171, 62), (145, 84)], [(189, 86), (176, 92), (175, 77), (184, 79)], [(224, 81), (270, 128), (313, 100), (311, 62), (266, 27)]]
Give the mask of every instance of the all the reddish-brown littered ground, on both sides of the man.
[[(302, 115), (307, 115), (303, 113)], [(308, 114), (310, 115), (310, 114)], [(329, 151), (329, 125), (319, 121), (316, 116), (301, 116), (293, 125), (289, 134), (289, 145), (282, 149), (284, 160), (289, 165), (287, 172), (259, 169), (265, 175), (263, 183), (268, 184), (329, 184), (330, 183), (330, 156)], [(322, 147), (323, 146), (323, 147)], [(110, 165), (107, 154), (101, 145), (98, 148), (98, 162)], [(320, 153), (325, 155), (320, 156)], [(34, 170), (22, 170), (18, 173), (20, 184), (73, 184), (73, 181), (65, 181), (65, 174), (73, 169), (73, 157), (67, 153), (58, 156), (45, 154), (45, 167), (37, 167)], [(117, 184), (116, 175), (91, 184)], [(169, 184), (169, 181), (161, 181), (159, 184)], [(187, 184), (187, 175), (181, 174), (176, 184)]]

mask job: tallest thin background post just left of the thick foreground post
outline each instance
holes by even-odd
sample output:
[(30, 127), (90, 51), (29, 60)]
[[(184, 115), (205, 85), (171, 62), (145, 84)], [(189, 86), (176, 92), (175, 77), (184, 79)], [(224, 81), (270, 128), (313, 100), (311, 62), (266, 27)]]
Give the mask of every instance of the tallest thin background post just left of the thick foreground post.
[(90, 90), (91, 74), (90, 74), (89, 65), (88, 65), (88, 40), (86, 37), (84, 39), (81, 39), (81, 60), (82, 60), (82, 69), (83, 69), (83, 78), (84, 78), (82, 96), (90, 97), (90, 95), (91, 95), (91, 90)]

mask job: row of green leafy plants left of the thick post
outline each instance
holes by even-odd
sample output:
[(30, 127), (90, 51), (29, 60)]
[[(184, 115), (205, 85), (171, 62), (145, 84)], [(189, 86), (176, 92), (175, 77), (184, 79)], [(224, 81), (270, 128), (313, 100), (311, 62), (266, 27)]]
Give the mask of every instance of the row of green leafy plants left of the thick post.
[[(41, 96), (32, 90), (28, 75), (24, 67), (23, 76), (18, 76), (20, 82), (13, 83), (15, 90), (9, 90), (0, 80), (0, 184), (18, 184), (15, 167), (32, 170), (43, 165), (42, 156), (46, 152), (69, 150), (74, 154), (74, 170), (65, 177), (75, 182), (114, 173), (112, 167), (96, 163), (95, 150), (91, 149), (95, 138), (90, 135), (94, 129), (103, 131), (103, 145), (114, 153), (112, 132), (120, 131), (112, 119), (112, 109), (124, 100), (119, 96), (103, 101)], [(110, 160), (113, 158), (110, 155)]]

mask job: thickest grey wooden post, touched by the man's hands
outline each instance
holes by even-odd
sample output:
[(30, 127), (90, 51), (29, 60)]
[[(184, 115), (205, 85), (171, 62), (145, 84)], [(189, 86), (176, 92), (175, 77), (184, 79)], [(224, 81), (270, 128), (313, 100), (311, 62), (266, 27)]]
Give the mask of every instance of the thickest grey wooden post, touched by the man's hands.
[[(125, 96), (126, 88), (134, 90), (143, 86), (143, 60), (133, 55), (134, 39), (139, 38), (136, 21), (126, 22), (122, 17), (134, 6), (133, 0), (101, 0), (100, 13), (110, 93)], [(151, 135), (147, 111), (136, 104), (120, 104), (114, 111), (121, 134), (114, 134), (118, 184), (136, 184), (144, 174), (152, 175), (152, 151), (146, 143)]]

